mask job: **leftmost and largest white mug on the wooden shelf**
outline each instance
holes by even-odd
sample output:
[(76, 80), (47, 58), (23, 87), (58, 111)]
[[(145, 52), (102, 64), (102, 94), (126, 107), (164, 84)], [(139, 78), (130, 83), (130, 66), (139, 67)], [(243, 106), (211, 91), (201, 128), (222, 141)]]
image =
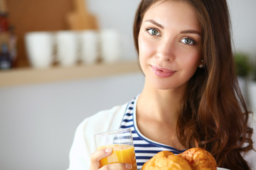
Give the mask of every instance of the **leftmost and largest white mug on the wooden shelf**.
[(28, 32), (25, 35), (25, 46), (32, 67), (46, 68), (53, 63), (53, 33)]

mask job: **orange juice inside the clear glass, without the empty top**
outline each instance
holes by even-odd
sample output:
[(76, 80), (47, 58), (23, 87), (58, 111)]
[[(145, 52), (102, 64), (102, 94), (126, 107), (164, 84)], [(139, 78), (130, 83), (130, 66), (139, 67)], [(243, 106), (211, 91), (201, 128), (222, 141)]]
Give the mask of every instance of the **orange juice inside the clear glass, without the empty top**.
[(104, 149), (107, 147), (112, 147), (112, 154), (109, 157), (105, 157), (100, 160), (100, 167), (106, 164), (121, 162), (121, 163), (132, 164), (132, 170), (137, 170), (134, 147), (130, 145), (117, 144), (117, 145), (108, 145), (105, 147), (100, 147), (98, 149)]

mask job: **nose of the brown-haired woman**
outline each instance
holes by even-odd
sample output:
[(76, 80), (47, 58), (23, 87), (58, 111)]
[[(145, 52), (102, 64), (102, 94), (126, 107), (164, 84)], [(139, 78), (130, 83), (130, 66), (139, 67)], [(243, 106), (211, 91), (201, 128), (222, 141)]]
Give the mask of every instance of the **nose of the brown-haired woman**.
[(174, 60), (174, 44), (171, 40), (162, 41), (159, 44), (158, 50), (156, 52), (156, 57), (163, 62), (171, 62)]

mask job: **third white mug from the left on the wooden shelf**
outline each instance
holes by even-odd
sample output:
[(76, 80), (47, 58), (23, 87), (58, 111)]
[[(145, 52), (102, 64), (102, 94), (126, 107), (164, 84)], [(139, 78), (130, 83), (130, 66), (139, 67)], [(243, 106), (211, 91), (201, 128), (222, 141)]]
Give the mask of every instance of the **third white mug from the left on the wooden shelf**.
[(96, 30), (82, 30), (79, 33), (80, 60), (85, 64), (94, 64), (99, 55), (99, 37)]

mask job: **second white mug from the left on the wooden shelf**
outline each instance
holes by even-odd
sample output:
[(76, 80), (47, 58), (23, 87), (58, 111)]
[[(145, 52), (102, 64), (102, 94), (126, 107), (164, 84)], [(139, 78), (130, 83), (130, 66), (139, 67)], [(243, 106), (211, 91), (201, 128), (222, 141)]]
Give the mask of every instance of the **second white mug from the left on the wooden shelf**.
[(71, 30), (55, 33), (57, 61), (62, 66), (72, 66), (78, 62), (78, 35)]

